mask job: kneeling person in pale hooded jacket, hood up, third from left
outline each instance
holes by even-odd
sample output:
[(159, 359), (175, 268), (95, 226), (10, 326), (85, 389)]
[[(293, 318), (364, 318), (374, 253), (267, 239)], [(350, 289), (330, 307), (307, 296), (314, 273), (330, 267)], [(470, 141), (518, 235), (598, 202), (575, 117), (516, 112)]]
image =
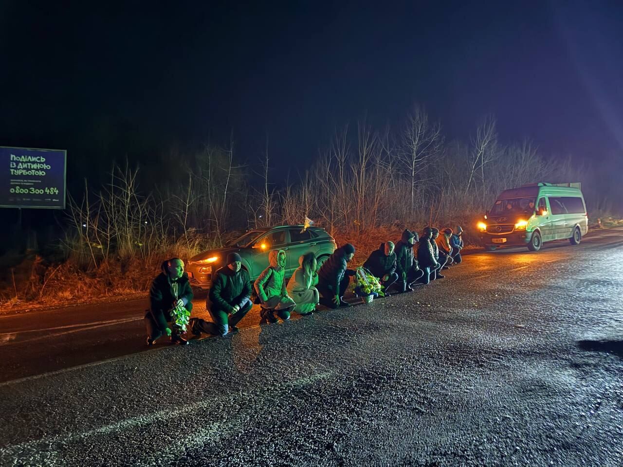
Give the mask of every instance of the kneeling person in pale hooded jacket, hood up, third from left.
[(285, 286), (285, 251), (272, 250), (269, 263), (269, 267), (255, 280), (255, 293), (262, 306), (262, 321), (276, 323), (275, 313), (283, 321), (288, 321), (296, 303)]

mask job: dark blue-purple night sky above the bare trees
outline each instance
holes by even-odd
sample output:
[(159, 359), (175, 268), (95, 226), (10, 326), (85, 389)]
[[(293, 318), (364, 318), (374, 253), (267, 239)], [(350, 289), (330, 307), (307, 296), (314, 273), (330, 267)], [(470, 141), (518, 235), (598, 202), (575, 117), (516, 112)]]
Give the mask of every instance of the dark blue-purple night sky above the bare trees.
[(268, 138), (297, 170), (336, 127), (419, 103), (449, 139), (492, 113), (505, 142), (621, 159), (621, 2), (363, 5), (4, 0), (0, 145), (68, 149), (82, 177), (233, 131), (241, 158)]

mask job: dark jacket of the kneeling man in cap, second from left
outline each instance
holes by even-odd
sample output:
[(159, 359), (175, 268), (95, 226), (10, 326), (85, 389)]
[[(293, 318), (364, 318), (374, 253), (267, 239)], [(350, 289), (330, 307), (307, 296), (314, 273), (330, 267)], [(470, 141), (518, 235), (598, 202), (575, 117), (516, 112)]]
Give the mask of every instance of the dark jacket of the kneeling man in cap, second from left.
[(251, 280), (249, 273), (244, 269), (238, 272), (232, 271), (228, 266), (224, 266), (214, 273), (212, 288), (208, 295), (208, 308), (218, 308), (227, 313), (234, 312), (234, 305), (242, 306), (251, 296)]

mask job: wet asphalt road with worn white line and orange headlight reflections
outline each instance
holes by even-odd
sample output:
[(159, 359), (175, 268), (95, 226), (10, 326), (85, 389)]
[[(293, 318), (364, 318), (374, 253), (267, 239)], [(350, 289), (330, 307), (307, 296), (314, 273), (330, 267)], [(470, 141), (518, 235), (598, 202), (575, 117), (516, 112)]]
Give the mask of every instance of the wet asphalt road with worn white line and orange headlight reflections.
[(0, 465), (621, 466), (622, 273), (613, 229), (186, 347), (138, 301), (2, 316)]

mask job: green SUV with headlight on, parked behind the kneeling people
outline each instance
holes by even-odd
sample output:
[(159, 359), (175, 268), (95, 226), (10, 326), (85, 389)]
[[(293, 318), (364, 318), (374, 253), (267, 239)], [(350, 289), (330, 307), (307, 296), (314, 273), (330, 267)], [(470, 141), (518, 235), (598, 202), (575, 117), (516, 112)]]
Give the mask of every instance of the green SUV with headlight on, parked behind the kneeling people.
[(321, 227), (303, 225), (279, 225), (265, 229), (250, 230), (222, 248), (214, 248), (191, 258), (186, 264), (186, 272), (191, 285), (204, 289), (212, 285), (212, 274), (225, 265), (229, 253), (238, 253), (242, 267), (249, 271), (254, 281), (269, 265), (270, 250), (285, 250), (285, 276), (290, 277), (298, 268), (298, 258), (313, 252), (318, 260), (318, 268), (337, 248), (335, 238)]

